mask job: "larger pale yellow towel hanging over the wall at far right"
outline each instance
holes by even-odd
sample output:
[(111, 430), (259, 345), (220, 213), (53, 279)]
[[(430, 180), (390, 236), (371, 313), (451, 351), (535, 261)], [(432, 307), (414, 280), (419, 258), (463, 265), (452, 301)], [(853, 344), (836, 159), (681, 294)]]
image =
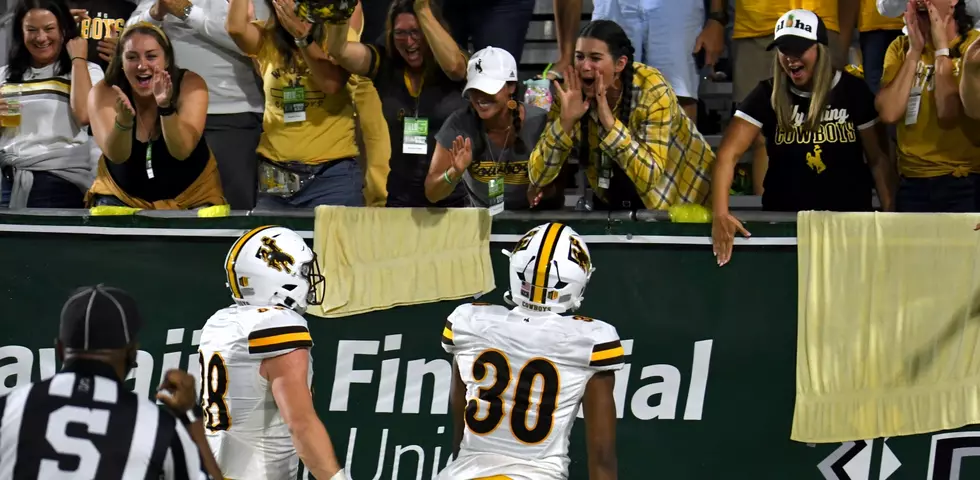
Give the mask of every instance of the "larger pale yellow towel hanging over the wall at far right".
[(980, 423), (980, 215), (802, 212), (798, 222), (791, 438)]

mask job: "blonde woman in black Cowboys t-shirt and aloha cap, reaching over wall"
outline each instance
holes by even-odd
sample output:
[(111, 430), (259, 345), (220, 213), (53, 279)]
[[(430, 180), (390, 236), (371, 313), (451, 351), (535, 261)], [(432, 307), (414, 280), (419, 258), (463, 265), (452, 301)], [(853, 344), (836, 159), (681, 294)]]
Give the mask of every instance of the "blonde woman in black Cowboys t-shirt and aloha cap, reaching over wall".
[[(882, 150), (874, 95), (867, 84), (831, 66), (827, 30), (813, 12), (779, 19), (773, 78), (759, 82), (725, 132), (712, 176), (712, 238), (719, 265), (731, 256), (735, 231), (728, 211), (735, 165), (762, 131), (769, 165), (762, 208), (769, 211), (870, 211), (872, 187), (893, 208), (894, 166)], [(865, 162), (867, 158), (867, 162)]]

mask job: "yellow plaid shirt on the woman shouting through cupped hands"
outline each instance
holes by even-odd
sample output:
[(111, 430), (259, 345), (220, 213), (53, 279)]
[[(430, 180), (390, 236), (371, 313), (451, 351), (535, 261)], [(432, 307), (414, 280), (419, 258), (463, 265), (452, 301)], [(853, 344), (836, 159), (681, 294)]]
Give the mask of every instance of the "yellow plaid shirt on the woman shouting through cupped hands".
[[(606, 200), (605, 190), (598, 186), (598, 166), (601, 155), (606, 155), (633, 181), (646, 208), (665, 210), (682, 203), (704, 204), (711, 188), (711, 164), (715, 161), (711, 146), (684, 114), (657, 69), (634, 63), (633, 70), (629, 125), (619, 120), (619, 106), (613, 111), (616, 123), (608, 131), (599, 122), (595, 109), (586, 114), (591, 147), (586, 176), (592, 190)], [(544, 135), (528, 161), (528, 174), (536, 186), (554, 181), (581, 135), (580, 123), (575, 124), (569, 136), (562, 130), (560, 119), (561, 105), (556, 101), (548, 113)]]

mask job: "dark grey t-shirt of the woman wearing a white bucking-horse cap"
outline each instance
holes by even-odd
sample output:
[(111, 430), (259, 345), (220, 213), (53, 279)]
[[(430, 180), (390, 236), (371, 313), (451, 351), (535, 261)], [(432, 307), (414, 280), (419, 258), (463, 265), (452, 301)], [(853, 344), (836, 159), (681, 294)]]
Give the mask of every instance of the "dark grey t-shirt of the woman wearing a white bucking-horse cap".
[(531, 205), (527, 201), (527, 187), (531, 184), (527, 174), (527, 160), (531, 150), (538, 143), (538, 138), (544, 133), (548, 122), (548, 112), (533, 105), (524, 105), (524, 122), (521, 124), (521, 139), (524, 141), (523, 152), (514, 151), (507, 147), (501, 152), (496, 146), (488, 146), (488, 141), (479, 118), (469, 110), (469, 107), (457, 110), (446, 119), (436, 141), (446, 150), (452, 151), (453, 140), (456, 136), (469, 138), (473, 144), (473, 163), (463, 175), (466, 190), (469, 192), (470, 203), (474, 207), (487, 208), (490, 206), (490, 180), (504, 177), (504, 208), (507, 210), (527, 210)]

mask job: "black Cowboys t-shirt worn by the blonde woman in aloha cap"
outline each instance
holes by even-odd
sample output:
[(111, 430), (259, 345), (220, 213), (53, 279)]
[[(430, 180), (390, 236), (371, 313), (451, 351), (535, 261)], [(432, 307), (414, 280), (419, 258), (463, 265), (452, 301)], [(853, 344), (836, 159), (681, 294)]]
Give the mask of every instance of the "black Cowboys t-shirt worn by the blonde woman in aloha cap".
[(746, 97), (735, 116), (762, 129), (769, 153), (762, 208), (771, 211), (871, 210), (871, 171), (860, 132), (878, 123), (874, 94), (863, 80), (837, 72), (816, 131), (804, 121), (810, 93), (791, 88), (795, 124), (782, 131), (772, 107), (772, 79)]

